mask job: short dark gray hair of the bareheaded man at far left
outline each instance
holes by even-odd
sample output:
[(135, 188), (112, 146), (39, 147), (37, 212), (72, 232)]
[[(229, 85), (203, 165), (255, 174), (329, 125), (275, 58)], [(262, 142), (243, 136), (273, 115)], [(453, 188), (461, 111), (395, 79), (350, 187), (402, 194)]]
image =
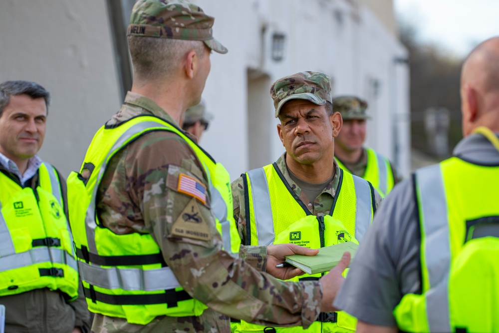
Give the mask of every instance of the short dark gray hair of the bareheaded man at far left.
[(0, 117), (3, 113), (3, 109), (5, 109), (5, 106), (8, 105), (8, 101), (12, 95), (28, 95), (31, 98), (43, 97), (48, 114), (50, 93), (38, 83), (16, 80), (0, 83)]

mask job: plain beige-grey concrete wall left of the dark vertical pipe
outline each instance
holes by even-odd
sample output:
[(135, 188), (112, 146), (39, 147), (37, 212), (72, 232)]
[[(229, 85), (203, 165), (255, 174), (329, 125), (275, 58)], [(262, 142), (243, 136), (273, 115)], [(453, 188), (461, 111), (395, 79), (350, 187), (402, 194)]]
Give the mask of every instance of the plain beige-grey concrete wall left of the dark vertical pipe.
[(0, 31), (0, 81), (51, 93), (39, 155), (67, 175), (121, 104), (105, 2), (2, 0)]

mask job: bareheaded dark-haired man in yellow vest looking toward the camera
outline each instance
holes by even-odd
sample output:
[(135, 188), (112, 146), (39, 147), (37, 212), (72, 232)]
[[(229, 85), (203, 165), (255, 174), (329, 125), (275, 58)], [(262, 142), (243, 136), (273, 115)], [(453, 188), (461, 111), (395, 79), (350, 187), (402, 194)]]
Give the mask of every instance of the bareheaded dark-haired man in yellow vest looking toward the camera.
[[(0, 83), (0, 304), (5, 332), (89, 332), (67, 223), (66, 183), (36, 153), (50, 94)], [(81, 293), (81, 288), (80, 288)]]

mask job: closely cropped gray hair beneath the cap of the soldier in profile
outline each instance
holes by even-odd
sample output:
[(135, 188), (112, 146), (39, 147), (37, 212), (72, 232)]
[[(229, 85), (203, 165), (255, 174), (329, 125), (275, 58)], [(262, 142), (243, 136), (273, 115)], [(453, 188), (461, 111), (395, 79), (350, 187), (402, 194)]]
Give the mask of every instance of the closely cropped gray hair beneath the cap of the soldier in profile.
[(182, 58), (192, 49), (202, 58), (207, 46), (201, 40), (132, 35), (128, 36), (128, 47), (136, 78), (155, 80), (171, 76)]

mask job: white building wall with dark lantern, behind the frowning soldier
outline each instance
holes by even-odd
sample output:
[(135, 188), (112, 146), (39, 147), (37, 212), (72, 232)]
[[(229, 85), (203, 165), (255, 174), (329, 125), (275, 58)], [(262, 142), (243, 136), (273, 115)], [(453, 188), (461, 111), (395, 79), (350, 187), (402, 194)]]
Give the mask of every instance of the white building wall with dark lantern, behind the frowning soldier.
[[(408, 72), (404, 70), (405, 65), (393, 60), (407, 54), (368, 7), (352, 6), (344, 0), (196, 2), (216, 17), (214, 34), (229, 48), (225, 55), (212, 55), (214, 65), (204, 96), (215, 119), (201, 144), (227, 167), (233, 179), (255, 167), (252, 159), (258, 160), (257, 165), (268, 164), (284, 151), (275, 129), (277, 120), (273, 118), (269, 88), (276, 79), (304, 70), (330, 75), (333, 95), (354, 94), (368, 100), (373, 120), (368, 122), (366, 144), (397, 162), (402, 173), (408, 175), (410, 126), (408, 122), (395, 122), (395, 119), (407, 119), (409, 112)], [(244, 13), (244, 19), (235, 17), (235, 12)], [(263, 35), (262, 27), (265, 27)], [(279, 62), (271, 59), (273, 32), (286, 34), (284, 58)], [(245, 99), (248, 87), (240, 75), (244, 67), (257, 69), (269, 78), (266, 95), (260, 96), (268, 102)], [(227, 81), (234, 84), (227, 85)], [(226, 85), (231, 87), (230, 94), (221, 93), (221, 87)], [(211, 106), (212, 99), (216, 108)], [(221, 99), (224, 99), (223, 103), (220, 103)], [(267, 105), (267, 116), (261, 110), (258, 112), (261, 123), (251, 121), (254, 111), (245, 106), (247, 102), (262, 107)], [(237, 105), (237, 112), (243, 114), (232, 115), (235, 109), (227, 107), (228, 104)], [(248, 129), (247, 123), (238, 123), (238, 119), (246, 119), (252, 127)], [(259, 144), (258, 156), (255, 156), (251, 151), (254, 147), (248, 146), (251, 142), (248, 135), (259, 136), (261, 142), (262, 136), (268, 137), (266, 131), (270, 131), (269, 141)], [(398, 137), (397, 156), (395, 134)], [(229, 142), (224, 138), (229, 138)], [(262, 160), (262, 156), (267, 159)]]

